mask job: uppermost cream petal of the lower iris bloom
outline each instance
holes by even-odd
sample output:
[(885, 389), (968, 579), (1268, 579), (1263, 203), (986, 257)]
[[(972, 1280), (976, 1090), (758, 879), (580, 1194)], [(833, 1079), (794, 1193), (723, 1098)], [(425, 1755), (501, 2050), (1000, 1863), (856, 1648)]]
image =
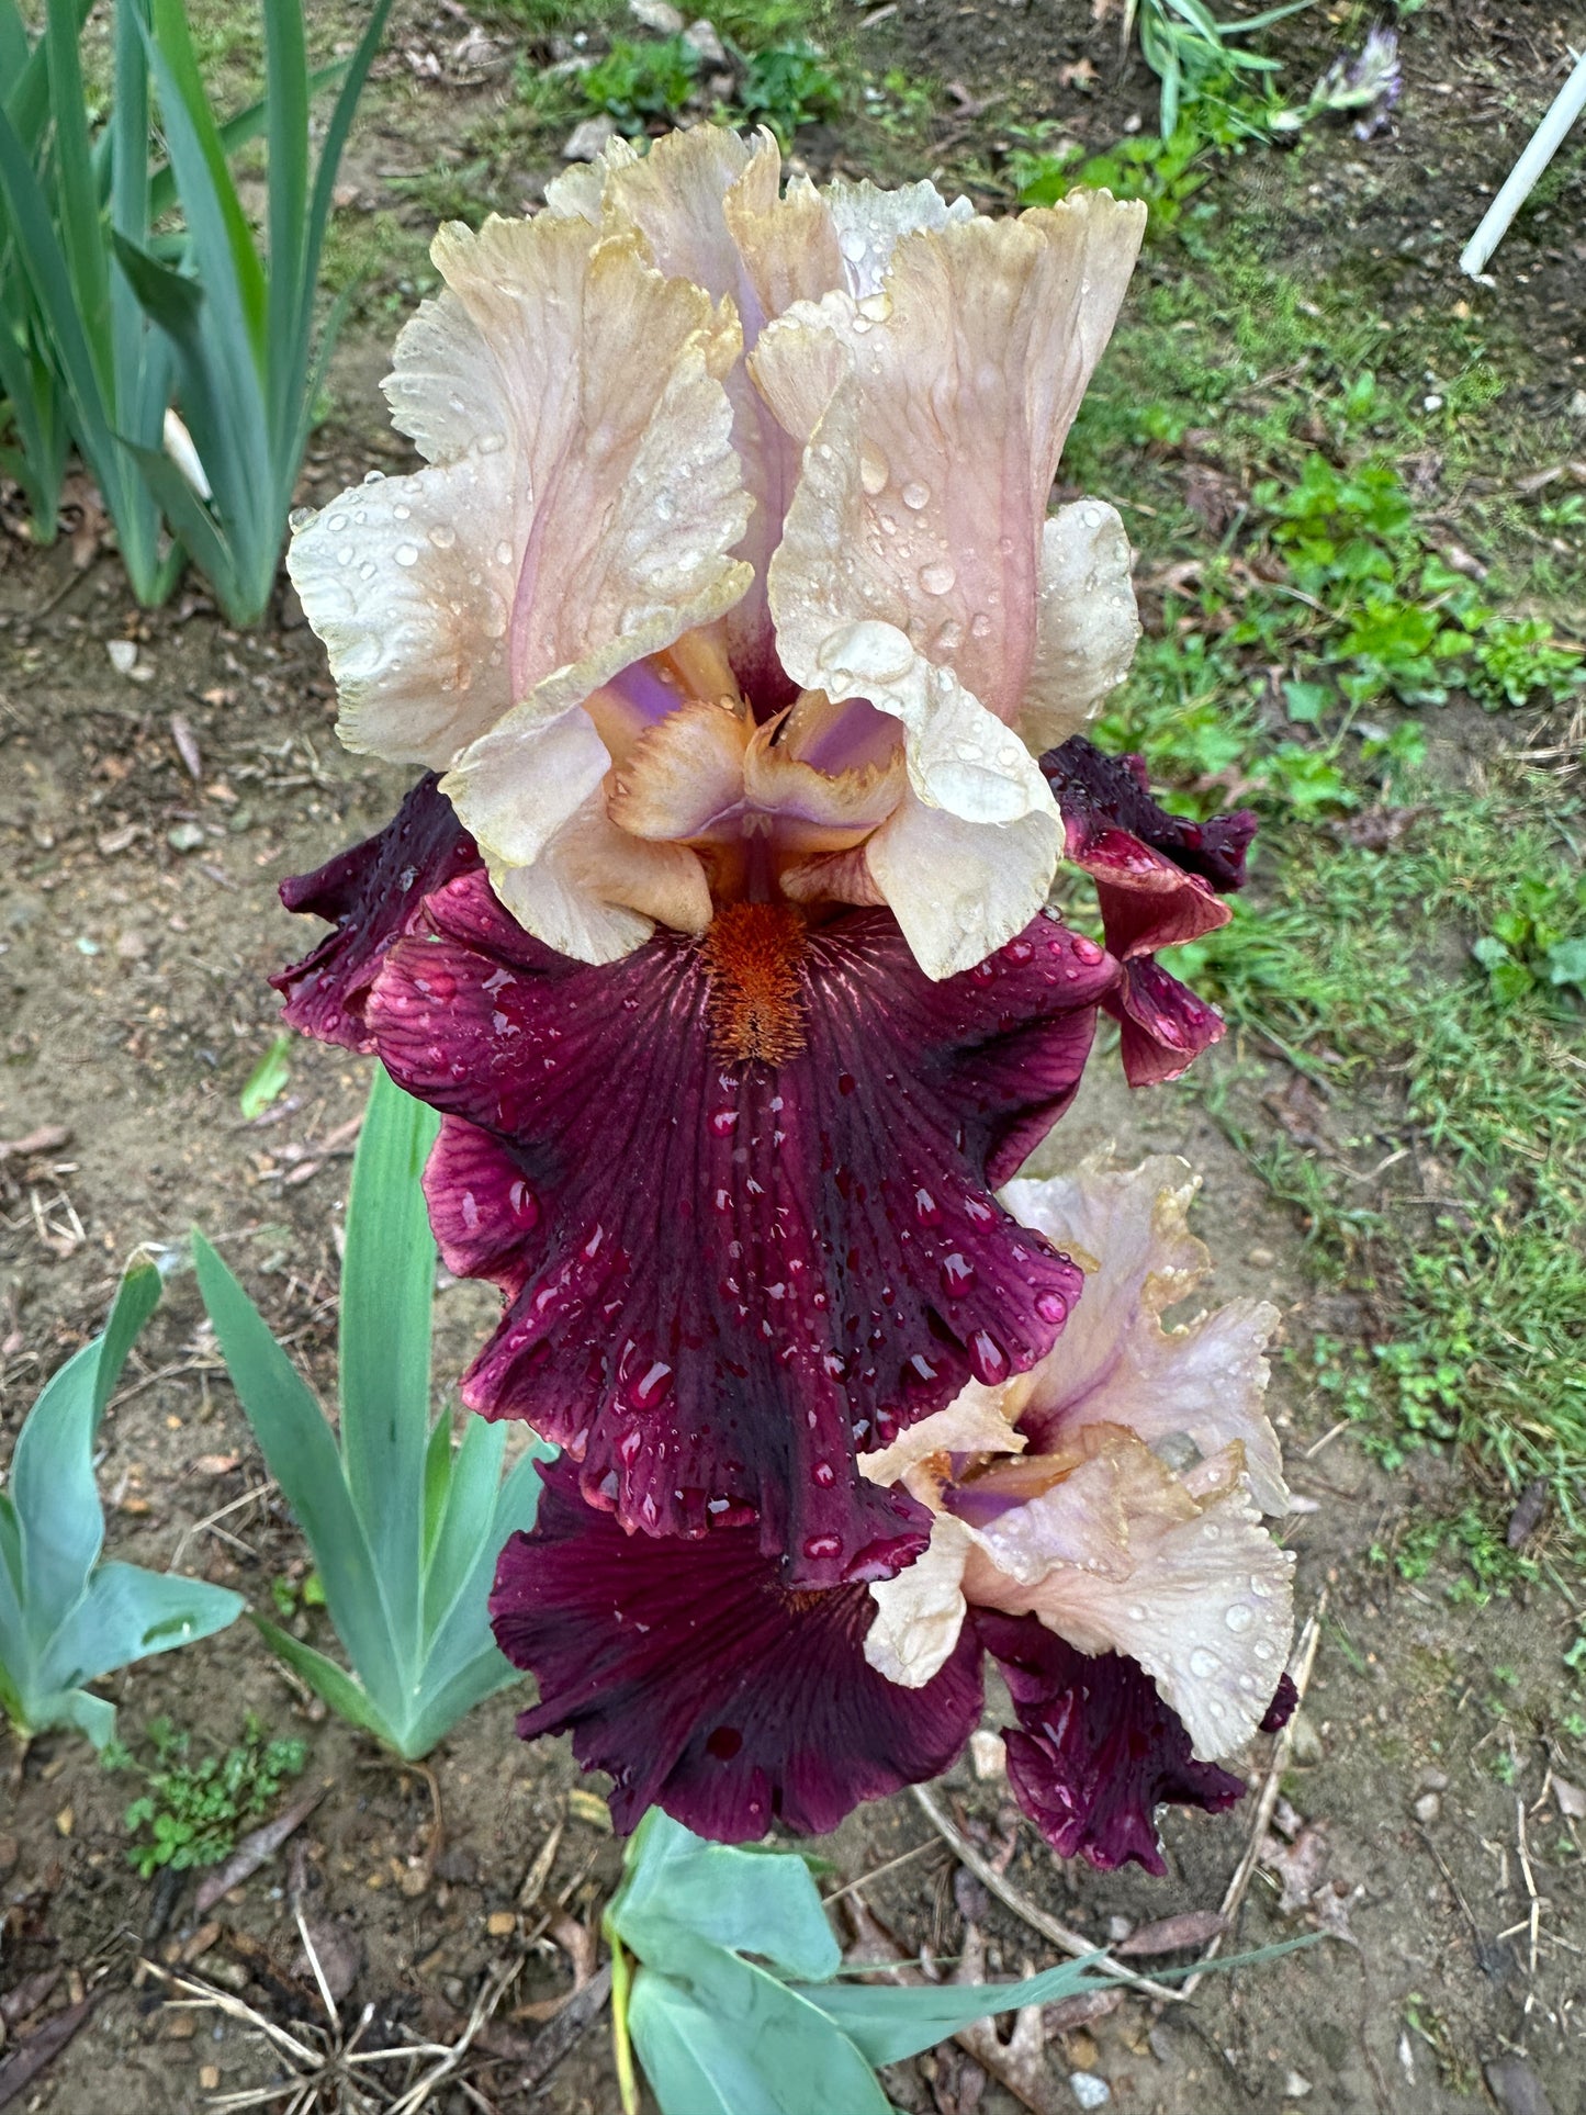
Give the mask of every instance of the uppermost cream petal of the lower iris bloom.
[(1262, 1512), (1284, 1514), (1290, 1500), (1262, 1358), (1277, 1309), (1233, 1301), (1176, 1328), (1161, 1324), (1212, 1269), (1186, 1225), (1199, 1187), (1174, 1155), (1127, 1174), (1108, 1155), (1074, 1176), (1007, 1184), (1013, 1216), (1087, 1271), (1055, 1349), (1019, 1377), (1013, 1415), (1038, 1419), (1043, 1447), (1068, 1445), (1091, 1423), (1123, 1426), (1148, 1447), (1182, 1436), (1205, 1457), (1239, 1445)]

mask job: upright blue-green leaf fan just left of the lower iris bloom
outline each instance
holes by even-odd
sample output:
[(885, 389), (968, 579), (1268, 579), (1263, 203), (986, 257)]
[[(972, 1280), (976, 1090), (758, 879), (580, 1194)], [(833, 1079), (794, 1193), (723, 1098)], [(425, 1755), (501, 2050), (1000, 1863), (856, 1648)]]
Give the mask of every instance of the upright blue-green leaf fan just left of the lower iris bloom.
[(309, 1385), (209, 1244), (199, 1290), (271, 1474), (313, 1550), (351, 1673), (264, 1616), (260, 1633), (324, 1700), (404, 1758), (516, 1681), (488, 1626), (495, 1559), (539, 1502), (533, 1442), (501, 1476), (508, 1428), (429, 1421), (436, 1244), (419, 1176), (436, 1117), (379, 1072), (347, 1199), (340, 1419)]

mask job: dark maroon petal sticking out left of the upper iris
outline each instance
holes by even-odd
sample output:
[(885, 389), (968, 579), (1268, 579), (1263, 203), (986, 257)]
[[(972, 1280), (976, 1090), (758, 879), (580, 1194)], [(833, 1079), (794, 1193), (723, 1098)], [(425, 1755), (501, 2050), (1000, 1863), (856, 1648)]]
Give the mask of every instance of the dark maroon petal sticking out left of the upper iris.
[(328, 918), (313, 954), (271, 977), (285, 994), (285, 1022), (319, 1043), (374, 1049), (364, 1005), (391, 941), (412, 933), (431, 888), (480, 865), (474, 840), (427, 772), (374, 838), (338, 852), (313, 873), (281, 882), (290, 912)]

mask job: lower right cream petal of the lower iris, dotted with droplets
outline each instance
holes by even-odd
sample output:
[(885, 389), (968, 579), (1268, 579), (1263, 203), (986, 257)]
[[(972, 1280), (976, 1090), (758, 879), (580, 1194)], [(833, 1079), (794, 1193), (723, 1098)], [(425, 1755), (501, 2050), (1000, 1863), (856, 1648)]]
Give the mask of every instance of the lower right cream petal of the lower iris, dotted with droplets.
[(1284, 1671), (1294, 1559), (1260, 1527), (1239, 1451), (1199, 1489), (1112, 1426), (1072, 1474), (973, 1535), (962, 1590), (1040, 1616), (1078, 1652), (1119, 1652), (1157, 1684), (1203, 1760), (1239, 1749)]

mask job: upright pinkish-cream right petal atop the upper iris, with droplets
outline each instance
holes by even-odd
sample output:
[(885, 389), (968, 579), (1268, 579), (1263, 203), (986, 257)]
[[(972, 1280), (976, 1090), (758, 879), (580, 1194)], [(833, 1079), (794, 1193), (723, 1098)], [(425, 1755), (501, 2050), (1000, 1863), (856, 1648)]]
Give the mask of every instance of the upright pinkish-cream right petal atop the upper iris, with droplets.
[(772, 563), (797, 681), (818, 685), (825, 641), (869, 618), (1017, 723), (1047, 495), (1142, 220), (1138, 205), (1076, 192), (1019, 220), (949, 222), (899, 241), (880, 292), (827, 296), (766, 330), (751, 372), (808, 438)]

